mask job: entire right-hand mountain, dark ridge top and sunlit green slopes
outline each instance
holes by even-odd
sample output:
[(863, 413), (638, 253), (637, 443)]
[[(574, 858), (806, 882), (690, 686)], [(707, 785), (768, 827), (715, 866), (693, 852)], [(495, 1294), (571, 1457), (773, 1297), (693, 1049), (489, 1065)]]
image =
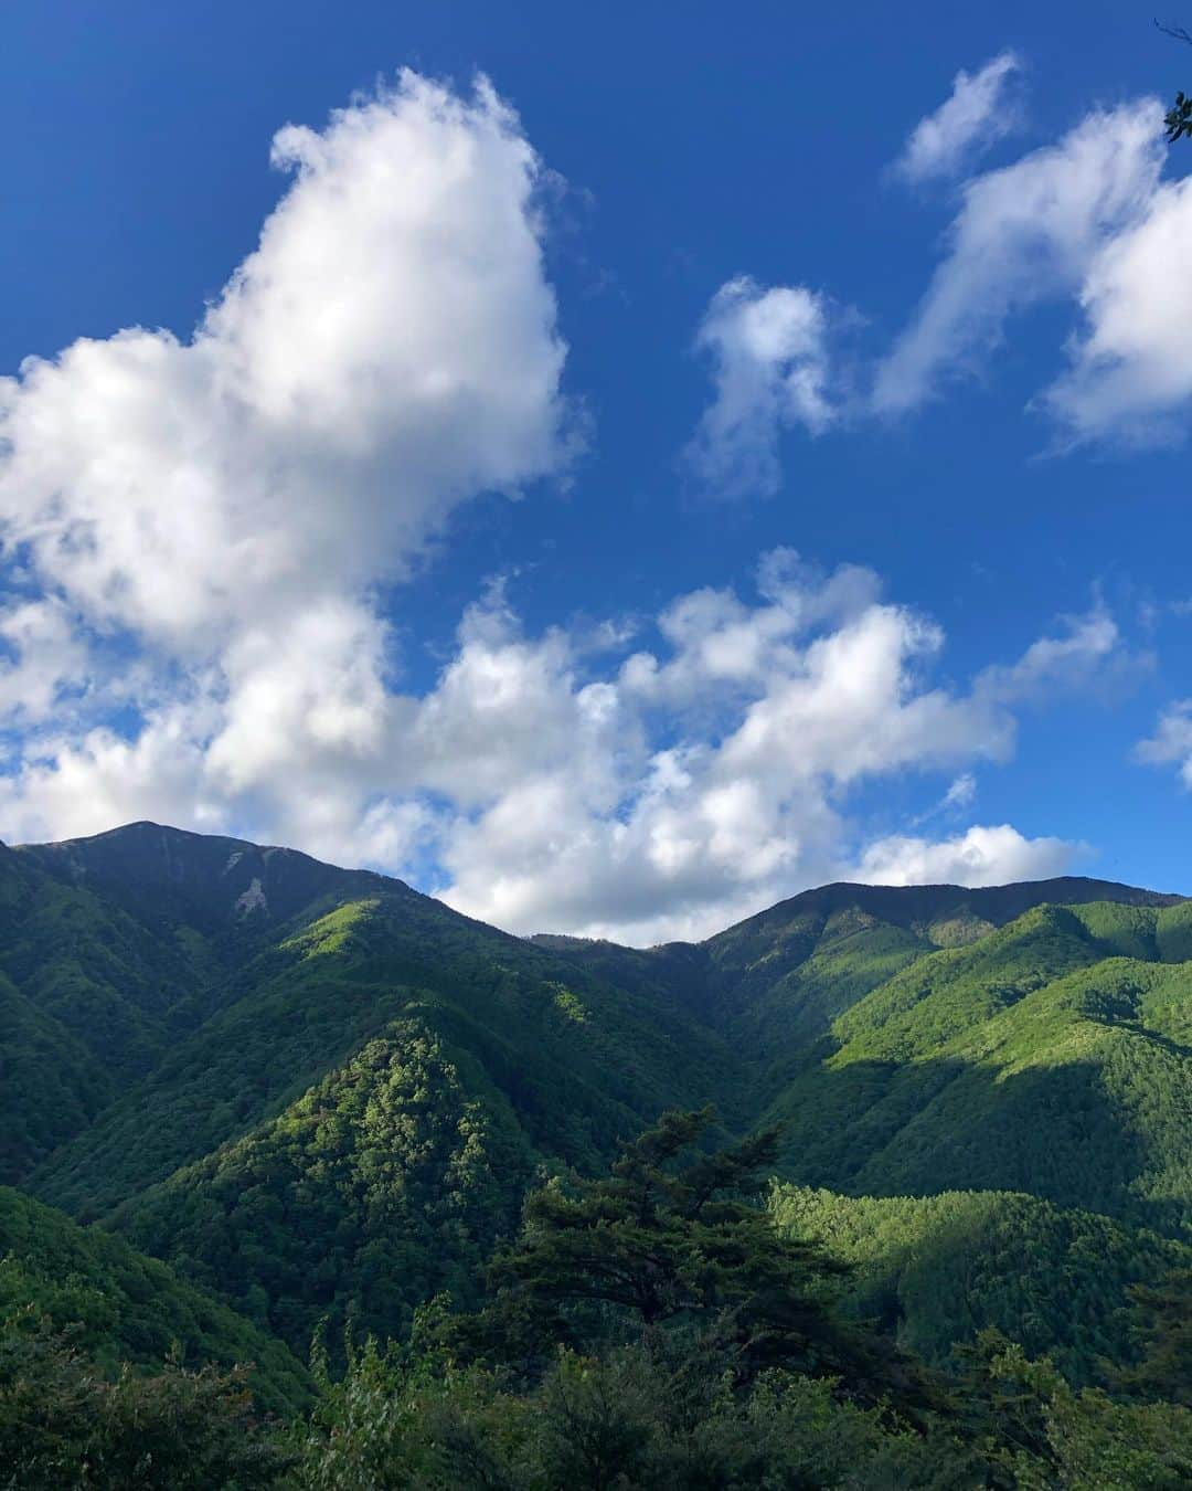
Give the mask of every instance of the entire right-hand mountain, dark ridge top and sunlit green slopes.
[(1189, 901), (827, 886), (699, 947), (554, 945), (642, 989), (687, 980), (796, 1179), (1030, 1191), (1173, 1236), (1192, 1220)]

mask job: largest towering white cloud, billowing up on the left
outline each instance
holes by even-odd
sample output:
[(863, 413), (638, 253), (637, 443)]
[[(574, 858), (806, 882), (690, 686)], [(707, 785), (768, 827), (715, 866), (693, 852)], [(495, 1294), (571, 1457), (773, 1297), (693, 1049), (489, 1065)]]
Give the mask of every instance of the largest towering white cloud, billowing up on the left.
[(34, 596), (0, 614), (0, 713), (77, 716), (25, 741), (9, 832), (225, 822), (292, 774), (295, 828), (337, 841), (393, 732), (374, 586), (569, 455), (542, 171), (486, 82), (402, 73), (273, 160), (289, 189), (188, 340), (0, 380), (0, 540)]

